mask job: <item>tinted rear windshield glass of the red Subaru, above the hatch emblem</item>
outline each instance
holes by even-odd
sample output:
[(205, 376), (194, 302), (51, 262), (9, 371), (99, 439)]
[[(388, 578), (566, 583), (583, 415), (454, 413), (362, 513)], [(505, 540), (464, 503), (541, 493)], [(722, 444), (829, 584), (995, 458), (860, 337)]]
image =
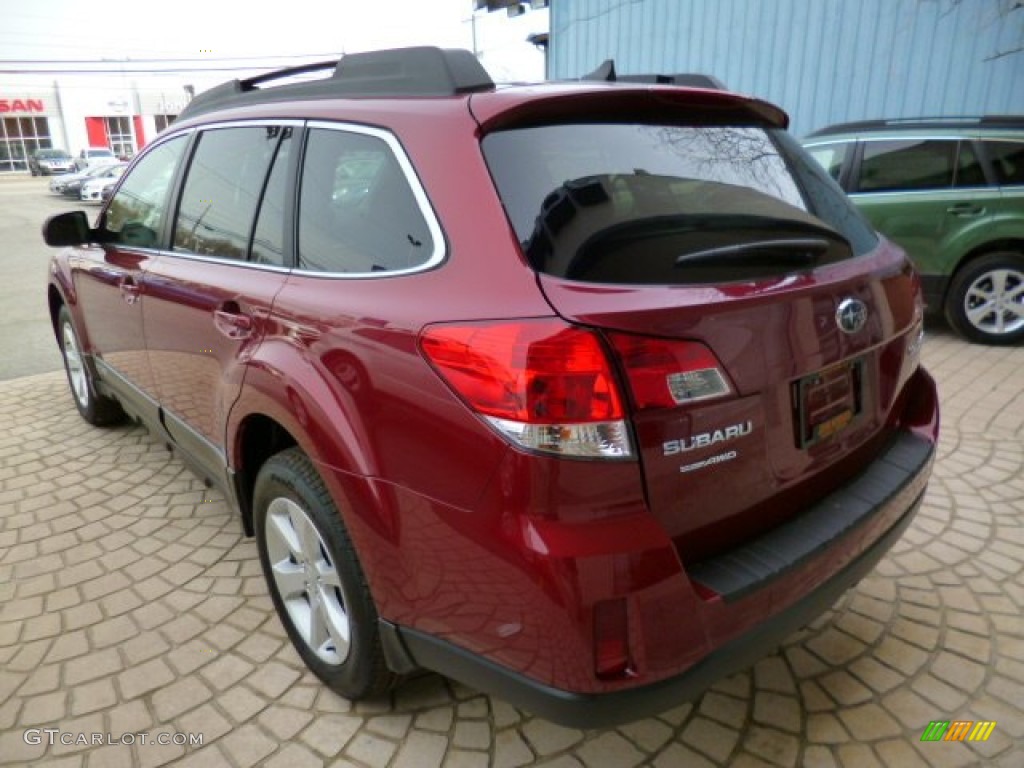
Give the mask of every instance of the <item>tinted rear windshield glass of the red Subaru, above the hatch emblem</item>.
[(483, 152), (527, 259), (569, 280), (773, 278), (877, 243), (820, 167), (762, 128), (550, 125), (493, 133)]

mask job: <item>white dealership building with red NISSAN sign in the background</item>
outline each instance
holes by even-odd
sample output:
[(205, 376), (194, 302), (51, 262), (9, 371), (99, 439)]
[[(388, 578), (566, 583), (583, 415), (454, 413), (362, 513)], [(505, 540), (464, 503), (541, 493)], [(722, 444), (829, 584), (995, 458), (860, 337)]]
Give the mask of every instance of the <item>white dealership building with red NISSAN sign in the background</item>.
[(193, 93), (223, 79), (0, 76), (0, 173), (28, 171), (29, 156), (45, 147), (74, 156), (87, 146), (109, 146), (130, 158), (174, 120)]

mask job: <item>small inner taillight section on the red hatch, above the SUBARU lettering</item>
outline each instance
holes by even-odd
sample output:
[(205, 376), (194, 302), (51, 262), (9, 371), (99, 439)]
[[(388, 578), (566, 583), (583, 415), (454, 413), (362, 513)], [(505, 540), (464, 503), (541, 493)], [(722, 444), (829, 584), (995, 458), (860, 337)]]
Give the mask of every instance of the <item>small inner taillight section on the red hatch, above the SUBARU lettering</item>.
[(731, 391), (718, 358), (703, 344), (618, 333), (610, 338), (638, 410), (675, 408)]

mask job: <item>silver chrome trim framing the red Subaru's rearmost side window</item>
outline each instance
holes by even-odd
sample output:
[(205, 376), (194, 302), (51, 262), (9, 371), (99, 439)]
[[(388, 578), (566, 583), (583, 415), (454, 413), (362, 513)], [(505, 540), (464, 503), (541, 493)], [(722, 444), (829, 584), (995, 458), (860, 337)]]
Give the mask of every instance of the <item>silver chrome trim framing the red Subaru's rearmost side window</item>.
[[(373, 136), (382, 140), (391, 150), (391, 154), (395, 161), (398, 163), (398, 167), (401, 169), (402, 176), (406, 178), (406, 182), (409, 184), (410, 189), (413, 191), (413, 197), (416, 199), (417, 208), (420, 209), (420, 214), (423, 216), (424, 221), (427, 224), (427, 230), (430, 232), (430, 238), (433, 242), (433, 253), (430, 257), (416, 266), (409, 267), (408, 269), (390, 269), (387, 271), (377, 271), (377, 272), (331, 272), (322, 271), (318, 269), (302, 269), (300, 267), (295, 267), (291, 271), (294, 274), (299, 274), (304, 278), (324, 278), (327, 280), (387, 280), (389, 278), (397, 278), (407, 274), (417, 274), (419, 272), (429, 271), (441, 262), (444, 261), (447, 256), (447, 241), (444, 238), (444, 231), (441, 229), (440, 220), (437, 214), (434, 212), (433, 206), (430, 204), (430, 199), (427, 197), (426, 188), (420, 181), (419, 175), (416, 173), (416, 168), (413, 166), (412, 161), (409, 159), (409, 155), (406, 153), (406, 148), (401, 145), (398, 137), (394, 135), (391, 131), (385, 130), (383, 128), (376, 128), (369, 125), (362, 125), (360, 123), (348, 123), (343, 121), (330, 121), (330, 120), (310, 120), (305, 123), (305, 131), (302, 136), (302, 147), (301, 147), (301, 160), (299, 162), (299, 176), (295, 179), (294, 189), (295, 189), (295, 202), (296, 206), (302, 204), (301, 201), (301, 186), (302, 186), (302, 176), (301, 169), (305, 162), (306, 144), (309, 141), (309, 136), (314, 129), (326, 129), (339, 132), (347, 133), (357, 133), (364, 136)], [(298, 263), (298, 211), (295, 215), (295, 226), (292, 228), (294, 237), (296, 239), (296, 249), (295, 257)]]

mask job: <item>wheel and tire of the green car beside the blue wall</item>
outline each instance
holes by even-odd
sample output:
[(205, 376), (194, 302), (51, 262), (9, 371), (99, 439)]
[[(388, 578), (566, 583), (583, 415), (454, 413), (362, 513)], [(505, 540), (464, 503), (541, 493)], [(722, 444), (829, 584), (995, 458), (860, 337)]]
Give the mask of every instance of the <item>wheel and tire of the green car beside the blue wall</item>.
[(970, 341), (1005, 345), (1024, 339), (1024, 254), (999, 251), (961, 267), (949, 284), (945, 313)]

